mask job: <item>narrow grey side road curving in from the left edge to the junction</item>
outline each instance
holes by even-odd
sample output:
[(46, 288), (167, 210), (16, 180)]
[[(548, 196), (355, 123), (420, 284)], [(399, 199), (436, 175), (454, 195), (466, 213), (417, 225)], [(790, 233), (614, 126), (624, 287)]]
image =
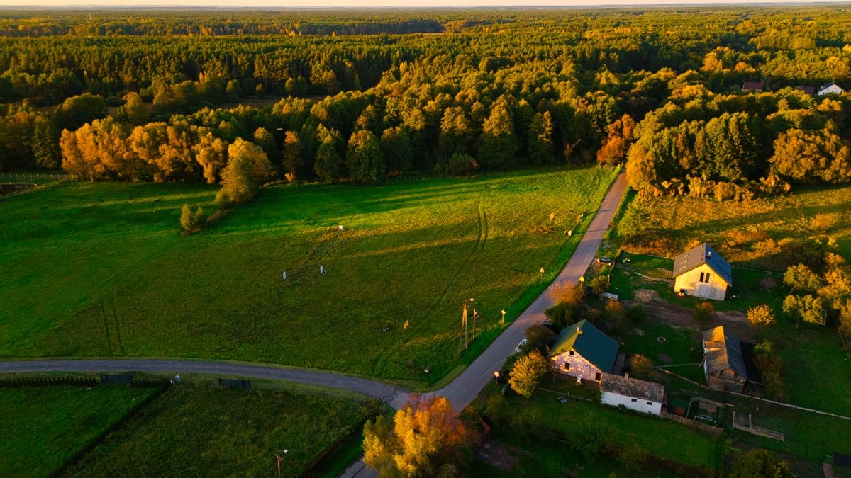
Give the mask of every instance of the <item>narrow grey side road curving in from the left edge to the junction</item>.
[(408, 390), (366, 378), (256, 363), (159, 359), (0, 361), (0, 373), (100, 373), (136, 371), (153, 373), (206, 373), (211, 375), (236, 375), (238, 377), (248, 378), (287, 380), (299, 384), (320, 385), (357, 392), (361, 395), (386, 401), (395, 408), (402, 407), (405, 401), (408, 400)]

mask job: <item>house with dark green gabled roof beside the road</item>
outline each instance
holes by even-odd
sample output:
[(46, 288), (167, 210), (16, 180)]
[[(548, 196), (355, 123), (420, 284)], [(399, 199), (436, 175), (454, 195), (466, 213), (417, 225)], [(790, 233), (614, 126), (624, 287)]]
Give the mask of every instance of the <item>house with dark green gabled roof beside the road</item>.
[(588, 321), (580, 321), (558, 334), (550, 352), (555, 373), (600, 382), (603, 373), (612, 373), (620, 345)]

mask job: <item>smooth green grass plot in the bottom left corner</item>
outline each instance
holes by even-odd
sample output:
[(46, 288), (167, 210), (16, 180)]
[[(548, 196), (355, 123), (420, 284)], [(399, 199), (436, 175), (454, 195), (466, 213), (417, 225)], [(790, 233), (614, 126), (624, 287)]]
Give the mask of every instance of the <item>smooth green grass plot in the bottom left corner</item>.
[(0, 389), (0, 475), (49, 476), (155, 389)]

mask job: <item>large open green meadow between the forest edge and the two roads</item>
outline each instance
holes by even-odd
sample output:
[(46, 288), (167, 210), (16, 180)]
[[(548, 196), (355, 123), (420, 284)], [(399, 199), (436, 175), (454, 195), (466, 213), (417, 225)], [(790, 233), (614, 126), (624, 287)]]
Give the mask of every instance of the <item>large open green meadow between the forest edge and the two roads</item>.
[(272, 186), (190, 237), (180, 207), (211, 209), (217, 188), (71, 183), (0, 202), (0, 356), (203, 357), (433, 382), (459, 363), (462, 301), (476, 299), (479, 342), (493, 339), (500, 310), (511, 320), (556, 276), (615, 174)]

